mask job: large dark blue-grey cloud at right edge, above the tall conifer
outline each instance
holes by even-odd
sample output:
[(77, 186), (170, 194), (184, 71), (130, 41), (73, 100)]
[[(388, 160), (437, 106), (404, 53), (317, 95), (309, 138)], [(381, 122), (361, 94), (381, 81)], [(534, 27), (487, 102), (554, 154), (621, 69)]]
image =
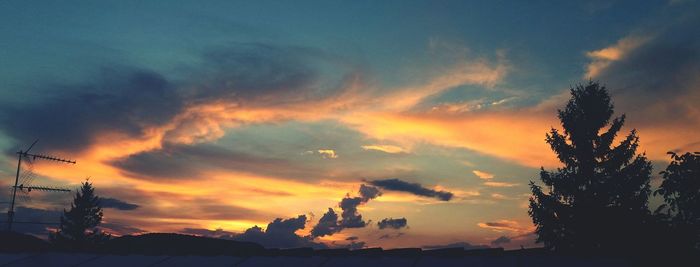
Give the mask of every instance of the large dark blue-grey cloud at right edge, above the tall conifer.
[(619, 110), (638, 114), (630, 117), (636, 123), (697, 123), (694, 114), (700, 112), (695, 104), (700, 100), (698, 25), (700, 17), (691, 16), (662, 29), (648, 30), (648, 41), (612, 61), (595, 79), (608, 86)]

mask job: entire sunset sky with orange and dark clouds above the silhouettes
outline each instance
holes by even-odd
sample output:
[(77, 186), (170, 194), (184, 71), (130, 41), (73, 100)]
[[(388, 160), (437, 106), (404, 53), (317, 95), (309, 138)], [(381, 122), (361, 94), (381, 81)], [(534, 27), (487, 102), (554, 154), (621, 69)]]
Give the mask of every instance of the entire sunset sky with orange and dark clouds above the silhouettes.
[[(38, 139), (33, 152), (77, 164), (26, 163), (23, 181), (89, 178), (115, 235), (538, 246), (528, 183), (561, 166), (544, 139), (572, 86), (607, 86), (652, 186), (666, 152), (700, 150), (698, 14), (678, 0), (3, 0), (1, 184)], [(73, 197), (30, 194), (17, 220), (57, 221)]]

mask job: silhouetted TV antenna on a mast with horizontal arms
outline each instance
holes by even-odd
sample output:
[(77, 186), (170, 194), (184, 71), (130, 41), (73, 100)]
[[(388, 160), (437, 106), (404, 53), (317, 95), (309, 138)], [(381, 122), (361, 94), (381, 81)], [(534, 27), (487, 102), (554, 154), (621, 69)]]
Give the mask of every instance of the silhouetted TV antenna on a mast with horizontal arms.
[[(24, 194), (29, 194), (32, 190), (34, 191), (44, 191), (44, 192), (70, 192), (71, 190), (65, 189), (65, 188), (56, 188), (56, 187), (50, 187), (50, 186), (33, 186), (31, 185), (31, 182), (33, 180), (33, 177), (31, 175), (31, 168), (33, 165), (31, 164), (33, 161), (37, 159), (43, 159), (43, 160), (49, 160), (49, 161), (58, 161), (58, 162), (63, 162), (63, 163), (68, 163), (68, 164), (75, 164), (76, 162), (74, 160), (68, 160), (68, 159), (63, 159), (59, 157), (54, 157), (54, 156), (49, 156), (49, 155), (43, 155), (43, 154), (30, 154), (29, 151), (32, 150), (34, 145), (36, 145), (36, 142), (39, 140), (37, 139), (32, 143), (32, 145), (29, 146), (26, 150), (22, 151), (20, 150), (17, 152), (17, 174), (15, 175), (15, 185), (11, 187), (12, 189), (12, 202), (10, 202), (10, 209), (7, 211), (7, 230), (12, 231), (12, 222), (14, 220), (15, 216), (15, 198), (17, 197), (17, 191), (20, 193)], [(20, 179), (20, 169), (22, 168), (22, 160), (27, 161), (30, 163), (30, 170), (22, 175), (22, 179)], [(22, 183), (20, 183), (20, 180), (22, 180)]]

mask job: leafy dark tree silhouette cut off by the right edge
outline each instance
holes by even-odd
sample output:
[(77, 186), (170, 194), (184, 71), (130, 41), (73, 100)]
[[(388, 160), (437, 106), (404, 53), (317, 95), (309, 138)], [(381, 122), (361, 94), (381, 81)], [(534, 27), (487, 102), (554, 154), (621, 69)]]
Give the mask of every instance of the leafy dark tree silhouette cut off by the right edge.
[(656, 214), (670, 229), (681, 248), (700, 249), (700, 152), (671, 154), (671, 164), (661, 172), (663, 182), (654, 195), (666, 204)]

